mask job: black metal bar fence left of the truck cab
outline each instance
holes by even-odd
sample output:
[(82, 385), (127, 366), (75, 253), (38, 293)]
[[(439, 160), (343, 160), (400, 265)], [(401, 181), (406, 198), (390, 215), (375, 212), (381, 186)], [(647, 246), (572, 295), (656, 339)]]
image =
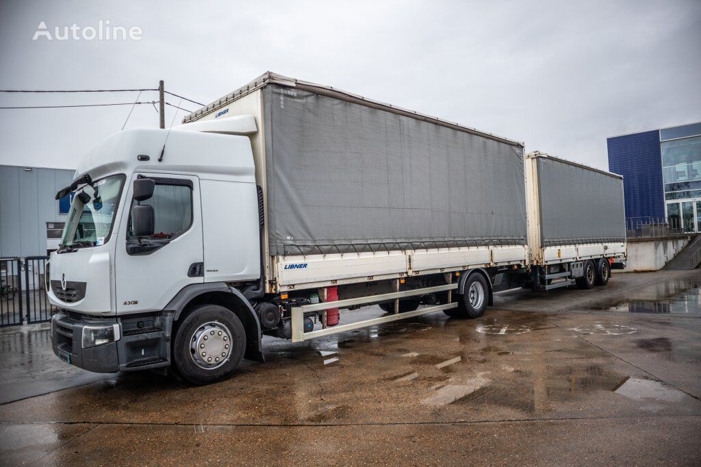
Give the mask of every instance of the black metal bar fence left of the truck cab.
[(58, 311), (44, 288), (48, 256), (0, 258), (0, 327), (43, 323)]

